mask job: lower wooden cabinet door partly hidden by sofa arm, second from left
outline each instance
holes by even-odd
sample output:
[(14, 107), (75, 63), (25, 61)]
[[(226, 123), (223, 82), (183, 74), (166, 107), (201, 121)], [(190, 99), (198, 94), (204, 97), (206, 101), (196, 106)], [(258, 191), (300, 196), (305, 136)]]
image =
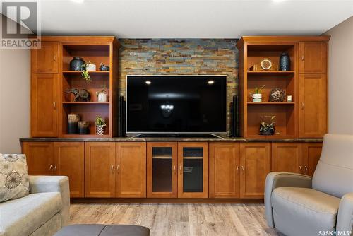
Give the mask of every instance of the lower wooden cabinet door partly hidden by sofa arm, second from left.
[(54, 143), (54, 175), (68, 177), (71, 197), (85, 196), (85, 144)]

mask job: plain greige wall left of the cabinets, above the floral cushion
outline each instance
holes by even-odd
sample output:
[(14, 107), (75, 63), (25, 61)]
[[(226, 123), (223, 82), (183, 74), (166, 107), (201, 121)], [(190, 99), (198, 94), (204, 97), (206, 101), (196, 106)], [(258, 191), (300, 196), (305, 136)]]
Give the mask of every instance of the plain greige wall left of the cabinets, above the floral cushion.
[(0, 153), (20, 153), (30, 133), (30, 52), (0, 49)]

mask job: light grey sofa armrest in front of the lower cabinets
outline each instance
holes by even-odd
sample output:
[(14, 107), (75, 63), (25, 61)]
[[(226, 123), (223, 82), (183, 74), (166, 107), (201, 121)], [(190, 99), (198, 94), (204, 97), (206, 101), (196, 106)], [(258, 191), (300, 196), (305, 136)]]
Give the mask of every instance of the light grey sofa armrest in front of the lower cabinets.
[(30, 175), (30, 193), (59, 192), (63, 208), (61, 214), (61, 227), (70, 221), (70, 190), (68, 187), (68, 177), (66, 176), (44, 176)]

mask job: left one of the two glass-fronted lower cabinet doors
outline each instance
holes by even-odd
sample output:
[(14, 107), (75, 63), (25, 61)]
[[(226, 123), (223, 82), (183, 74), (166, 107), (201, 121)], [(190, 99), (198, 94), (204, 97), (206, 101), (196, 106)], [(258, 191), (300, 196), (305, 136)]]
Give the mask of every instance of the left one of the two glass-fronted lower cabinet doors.
[(178, 196), (178, 143), (147, 143), (147, 197)]

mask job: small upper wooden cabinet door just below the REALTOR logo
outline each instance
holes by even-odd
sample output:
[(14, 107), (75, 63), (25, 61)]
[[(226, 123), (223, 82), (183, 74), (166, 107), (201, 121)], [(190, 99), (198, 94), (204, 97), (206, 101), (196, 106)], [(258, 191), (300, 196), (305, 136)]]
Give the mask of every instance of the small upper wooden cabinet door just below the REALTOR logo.
[(40, 49), (31, 49), (32, 73), (59, 73), (59, 43), (42, 42)]

